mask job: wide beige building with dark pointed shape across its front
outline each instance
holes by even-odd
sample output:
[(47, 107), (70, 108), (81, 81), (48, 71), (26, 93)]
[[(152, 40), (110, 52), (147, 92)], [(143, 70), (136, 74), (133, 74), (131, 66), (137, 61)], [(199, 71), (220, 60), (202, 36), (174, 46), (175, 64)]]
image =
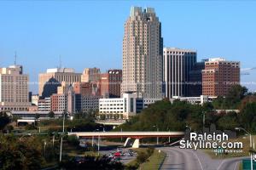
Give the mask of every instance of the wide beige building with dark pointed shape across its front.
[(43, 99), (57, 94), (57, 88), (64, 82), (67, 85), (81, 82), (81, 73), (75, 73), (70, 68), (47, 69), (46, 73), (39, 74), (38, 94)]

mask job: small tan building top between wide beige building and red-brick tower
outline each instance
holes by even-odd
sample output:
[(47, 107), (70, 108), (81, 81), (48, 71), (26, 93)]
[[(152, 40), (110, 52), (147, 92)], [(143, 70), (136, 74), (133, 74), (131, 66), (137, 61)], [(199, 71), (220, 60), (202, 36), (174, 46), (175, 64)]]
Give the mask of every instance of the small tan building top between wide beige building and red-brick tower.
[(85, 68), (81, 76), (81, 82), (98, 82), (101, 77), (99, 68)]

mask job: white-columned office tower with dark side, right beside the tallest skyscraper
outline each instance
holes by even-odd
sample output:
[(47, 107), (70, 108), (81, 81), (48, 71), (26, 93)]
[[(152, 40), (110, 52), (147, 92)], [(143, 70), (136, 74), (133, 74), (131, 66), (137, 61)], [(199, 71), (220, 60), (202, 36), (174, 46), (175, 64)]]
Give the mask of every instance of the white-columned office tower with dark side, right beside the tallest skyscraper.
[(164, 48), (164, 80), (166, 98), (189, 96), (189, 71), (196, 62), (196, 51)]

